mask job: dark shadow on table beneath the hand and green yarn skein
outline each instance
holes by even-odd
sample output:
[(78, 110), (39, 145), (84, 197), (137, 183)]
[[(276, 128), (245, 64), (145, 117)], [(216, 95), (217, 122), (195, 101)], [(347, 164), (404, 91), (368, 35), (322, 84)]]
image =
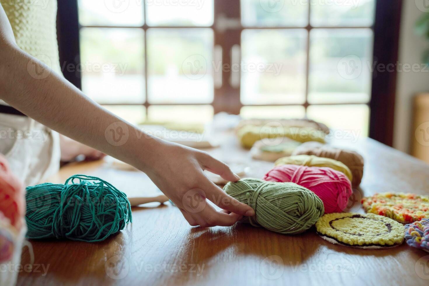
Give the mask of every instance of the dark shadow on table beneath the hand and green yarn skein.
[[(182, 260), (205, 265), (205, 273), (210, 273), (211, 265), (218, 263), (222, 257), (226, 257), (227, 262), (243, 265), (248, 259), (253, 261), (252, 265), (259, 265), (264, 259), (274, 258), (285, 267), (294, 267), (313, 256), (319, 247), (317, 238), (313, 239), (312, 236), (317, 235), (311, 231), (282, 235), (247, 223), (237, 223), (231, 227), (195, 227), (189, 230), (187, 244), (181, 251), (185, 255)], [(178, 275), (183, 281), (184, 275)], [(185, 276), (188, 280), (195, 278), (190, 274)]]

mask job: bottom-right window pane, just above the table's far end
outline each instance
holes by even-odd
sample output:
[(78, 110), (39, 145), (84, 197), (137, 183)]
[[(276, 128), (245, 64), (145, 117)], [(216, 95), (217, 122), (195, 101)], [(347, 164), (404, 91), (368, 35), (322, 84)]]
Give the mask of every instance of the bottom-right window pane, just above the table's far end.
[(368, 136), (369, 107), (366, 104), (310, 105), (307, 108), (307, 116), (325, 123), (332, 130), (344, 131), (341, 135), (333, 133), (333, 136)]

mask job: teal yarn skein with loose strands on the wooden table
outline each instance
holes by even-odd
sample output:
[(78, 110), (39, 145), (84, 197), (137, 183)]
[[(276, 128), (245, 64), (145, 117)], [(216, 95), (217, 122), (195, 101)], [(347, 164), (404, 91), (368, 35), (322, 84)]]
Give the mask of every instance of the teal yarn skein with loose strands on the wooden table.
[(132, 222), (127, 196), (112, 184), (73, 175), (64, 184), (27, 187), (27, 238), (103, 241)]

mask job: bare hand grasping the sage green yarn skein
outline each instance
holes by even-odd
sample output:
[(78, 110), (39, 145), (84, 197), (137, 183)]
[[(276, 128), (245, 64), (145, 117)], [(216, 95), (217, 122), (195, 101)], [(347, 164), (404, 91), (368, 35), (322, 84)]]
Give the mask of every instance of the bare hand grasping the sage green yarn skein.
[[(254, 210), (212, 183), (204, 170), (227, 181), (240, 178), (230, 168), (203, 151), (162, 142), (147, 158), (149, 178), (171, 199), (191, 226), (232, 226), (243, 216), (254, 216)], [(209, 199), (221, 211), (216, 211)]]

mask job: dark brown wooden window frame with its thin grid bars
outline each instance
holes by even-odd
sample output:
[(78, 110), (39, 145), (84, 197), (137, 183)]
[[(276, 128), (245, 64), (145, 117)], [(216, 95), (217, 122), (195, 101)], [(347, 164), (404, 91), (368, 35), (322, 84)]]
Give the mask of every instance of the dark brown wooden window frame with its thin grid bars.
[[(377, 60), (378, 64), (396, 63), (398, 59), (398, 42), (399, 42), (399, 25), (402, 10), (402, 0), (375, 0), (375, 21), (371, 27), (312, 27), (310, 22), (306, 27), (307, 43), (310, 42), (310, 31), (312, 29), (372, 29), (373, 39), (373, 59)], [(149, 28), (190, 28), (199, 29), (202, 27), (171, 27), (171, 26), (148, 26), (146, 23), (146, 13), (142, 11), (144, 24), (142, 26), (82, 26), (79, 24), (78, 16), (78, 0), (58, 1), (57, 14), (57, 31), (58, 45), (60, 50), (61, 66), (66, 66), (68, 63), (74, 65), (79, 64), (79, 30), (82, 27), (100, 27), (100, 28), (135, 28), (143, 29), (145, 32), (145, 102), (141, 103), (112, 103), (103, 105), (143, 105), (145, 106), (146, 114), (148, 107), (151, 105), (204, 105), (201, 103), (184, 102), (184, 103), (156, 103), (148, 102), (148, 65), (147, 65), (147, 33)], [(231, 63), (231, 50), (234, 45), (241, 46), (241, 33), (245, 29), (297, 29), (301, 27), (243, 27), (241, 24), (241, 12), (239, 0), (215, 0), (214, 1), (214, 22), (211, 28), (214, 32), (214, 44), (222, 47), (222, 63)], [(311, 6), (308, 9), (308, 19), (310, 18)], [(236, 19), (237, 25), (220, 29), (219, 18)], [(305, 87), (305, 103), (278, 104), (284, 106), (303, 106), (307, 114), (308, 103), (308, 77), (310, 67), (310, 47), (307, 45), (306, 51), (306, 87)], [(81, 75), (79, 72), (63, 71), (67, 80), (73, 83), (79, 89), (82, 88)], [(276, 104), (252, 104), (243, 105), (240, 101), (240, 86), (234, 87), (231, 82), (231, 71), (222, 72), (222, 85), (219, 88), (214, 87), (213, 102), (208, 103), (213, 106), (214, 113), (226, 111), (232, 114), (239, 114), (243, 106), (275, 106)], [(369, 118), (369, 137), (374, 138), (386, 145), (393, 144), (393, 117), (394, 105), (396, 96), (396, 71), (377, 73), (372, 75), (372, 91), (371, 99), (368, 103), (365, 102), (342, 102), (342, 103), (313, 103), (311, 105), (355, 105), (366, 104), (370, 109)]]

